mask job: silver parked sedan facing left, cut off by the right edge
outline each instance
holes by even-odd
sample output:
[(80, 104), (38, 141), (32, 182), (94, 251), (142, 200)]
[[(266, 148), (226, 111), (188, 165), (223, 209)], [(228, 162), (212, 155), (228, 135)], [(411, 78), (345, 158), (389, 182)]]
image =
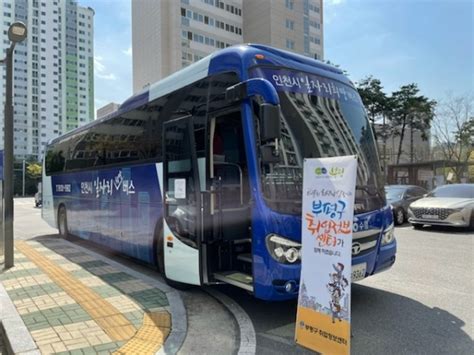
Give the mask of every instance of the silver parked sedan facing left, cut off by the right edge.
[(470, 227), (474, 230), (474, 184), (443, 185), (408, 208), (413, 228), (424, 224)]

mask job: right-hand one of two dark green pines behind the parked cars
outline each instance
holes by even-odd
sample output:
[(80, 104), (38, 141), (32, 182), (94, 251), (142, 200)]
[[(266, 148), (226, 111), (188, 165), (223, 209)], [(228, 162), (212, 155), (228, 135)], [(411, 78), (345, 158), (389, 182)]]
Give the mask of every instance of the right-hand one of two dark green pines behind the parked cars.
[(390, 121), (395, 133), (400, 136), (397, 150), (397, 164), (403, 153), (406, 129), (410, 128), (410, 160), (413, 161), (413, 131), (418, 130), (424, 140), (429, 139), (431, 121), (435, 115), (436, 101), (419, 95), (415, 83), (403, 85), (390, 97)]

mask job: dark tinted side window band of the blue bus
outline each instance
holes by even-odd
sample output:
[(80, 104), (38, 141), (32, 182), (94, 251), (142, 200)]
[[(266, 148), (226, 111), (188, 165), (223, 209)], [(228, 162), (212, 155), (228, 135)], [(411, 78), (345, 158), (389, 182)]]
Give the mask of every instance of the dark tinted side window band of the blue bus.
[[(209, 79), (66, 136), (48, 147), (46, 174), (162, 160), (163, 122), (192, 114), (204, 155)], [(221, 90), (222, 91), (222, 90)], [(223, 95), (221, 95), (223, 98)]]

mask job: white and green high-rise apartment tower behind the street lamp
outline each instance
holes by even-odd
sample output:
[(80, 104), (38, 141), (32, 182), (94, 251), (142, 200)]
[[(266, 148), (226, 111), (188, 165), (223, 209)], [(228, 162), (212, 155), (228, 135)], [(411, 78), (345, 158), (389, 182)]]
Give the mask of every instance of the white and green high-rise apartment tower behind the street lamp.
[[(10, 45), (12, 22), (22, 21), (28, 28), (14, 54), (14, 154), (39, 159), (50, 139), (94, 118), (94, 11), (73, 0), (1, 3), (0, 55)], [(4, 75), (0, 89), (4, 97)]]

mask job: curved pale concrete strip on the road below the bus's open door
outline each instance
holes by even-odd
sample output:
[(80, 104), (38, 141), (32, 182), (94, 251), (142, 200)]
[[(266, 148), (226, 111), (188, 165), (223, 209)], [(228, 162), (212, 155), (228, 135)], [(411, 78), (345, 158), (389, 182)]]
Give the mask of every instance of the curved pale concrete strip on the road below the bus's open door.
[(240, 345), (238, 355), (254, 355), (257, 351), (257, 336), (252, 320), (240, 305), (223, 293), (211, 289), (203, 288), (212, 297), (222, 303), (234, 316), (240, 331)]

